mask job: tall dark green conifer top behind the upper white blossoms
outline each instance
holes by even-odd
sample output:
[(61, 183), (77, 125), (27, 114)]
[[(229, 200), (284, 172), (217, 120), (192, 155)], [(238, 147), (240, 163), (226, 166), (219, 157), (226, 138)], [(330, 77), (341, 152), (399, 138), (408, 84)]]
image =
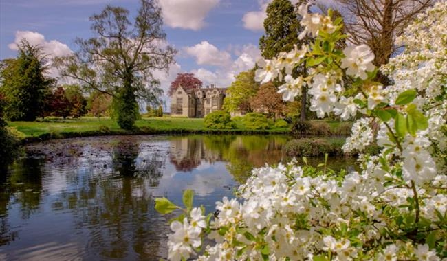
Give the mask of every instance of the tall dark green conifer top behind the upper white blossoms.
[(268, 5), (264, 20), (265, 35), (259, 39), (262, 56), (271, 59), (279, 52), (289, 52), (298, 44), (301, 30), (290, 0), (274, 0)]

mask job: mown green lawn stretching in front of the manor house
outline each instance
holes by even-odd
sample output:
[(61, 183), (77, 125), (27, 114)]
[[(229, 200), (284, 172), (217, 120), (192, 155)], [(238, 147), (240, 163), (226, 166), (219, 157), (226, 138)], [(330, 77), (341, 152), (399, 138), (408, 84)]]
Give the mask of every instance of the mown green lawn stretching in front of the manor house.
[[(204, 127), (204, 119), (199, 118), (177, 118), (177, 117), (155, 117), (143, 118), (135, 122), (138, 127), (136, 133), (182, 133), (182, 132), (212, 132)], [(80, 119), (45, 119), (36, 122), (8, 122), (8, 126), (17, 129), (27, 138), (42, 137), (74, 137), (80, 135), (98, 135), (132, 133), (122, 130), (115, 120), (101, 117), (81, 117)], [(107, 128), (106, 128), (107, 127)], [(100, 131), (102, 128), (102, 131)], [(233, 132), (248, 131), (243, 124), (237, 122), (237, 129), (228, 130)], [(271, 128), (267, 132), (286, 133), (288, 128)], [(225, 132), (225, 131), (221, 131)]]

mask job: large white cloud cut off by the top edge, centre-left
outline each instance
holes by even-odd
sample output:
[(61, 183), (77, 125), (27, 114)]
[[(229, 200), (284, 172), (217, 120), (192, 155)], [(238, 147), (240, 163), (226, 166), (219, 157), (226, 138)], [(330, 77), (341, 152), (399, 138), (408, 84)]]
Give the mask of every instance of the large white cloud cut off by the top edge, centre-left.
[(206, 25), (208, 12), (219, 0), (162, 0), (163, 20), (173, 28), (199, 30)]

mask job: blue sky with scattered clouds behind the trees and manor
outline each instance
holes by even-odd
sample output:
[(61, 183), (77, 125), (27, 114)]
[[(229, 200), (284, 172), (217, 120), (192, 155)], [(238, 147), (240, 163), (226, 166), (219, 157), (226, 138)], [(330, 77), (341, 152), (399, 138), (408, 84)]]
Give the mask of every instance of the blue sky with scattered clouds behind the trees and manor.
[[(265, 8), (271, 0), (159, 0), (167, 41), (178, 49), (163, 88), (179, 72), (193, 72), (204, 84), (227, 87), (235, 74), (259, 57)], [(105, 5), (135, 14), (138, 0), (1, 0), (0, 58), (15, 56), (20, 38), (43, 46), (49, 56), (76, 50), (76, 37), (91, 36), (89, 16)], [(56, 72), (53, 72), (56, 73)]]

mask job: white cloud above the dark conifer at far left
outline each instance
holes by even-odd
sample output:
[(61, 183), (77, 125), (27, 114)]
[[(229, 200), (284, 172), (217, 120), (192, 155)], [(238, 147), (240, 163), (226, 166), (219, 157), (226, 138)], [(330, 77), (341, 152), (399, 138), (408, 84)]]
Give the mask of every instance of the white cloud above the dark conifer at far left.
[(17, 31), (14, 43), (10, 43), (8, 47), (14, 51), (17, 51), (22, 40), (28, 41), (30, 45), (39, 45), (39, 47), (42, 48), (43, 54), (45, 54), (48, 59), (47, 65), (49, 65), (49, 69), (47, 71), (47, 75), (52, 78), (58, 77), (59, 73), (56, 68), (51, 66), (51, 60), (55, 57), (72, 54), (72, 50), (68, 47), (68, 45), (65, 45), (65, 43), (61, 43), (56, 40), (46, 41), (43, 34), (31, 31)]

